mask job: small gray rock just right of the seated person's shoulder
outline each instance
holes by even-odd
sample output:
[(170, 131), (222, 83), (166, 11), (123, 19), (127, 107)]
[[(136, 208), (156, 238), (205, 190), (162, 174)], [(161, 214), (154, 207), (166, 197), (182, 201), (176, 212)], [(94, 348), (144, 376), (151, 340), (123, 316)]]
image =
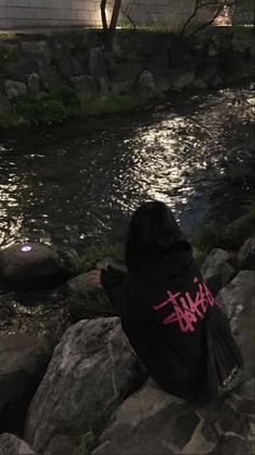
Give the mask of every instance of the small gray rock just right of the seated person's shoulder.
[(201, 273), (214, 295), (226, 286), (234, 275), (234, 268), (228, 262), (230, 259), (231, 256), (228, 251), (214, 248), (201, 267)]

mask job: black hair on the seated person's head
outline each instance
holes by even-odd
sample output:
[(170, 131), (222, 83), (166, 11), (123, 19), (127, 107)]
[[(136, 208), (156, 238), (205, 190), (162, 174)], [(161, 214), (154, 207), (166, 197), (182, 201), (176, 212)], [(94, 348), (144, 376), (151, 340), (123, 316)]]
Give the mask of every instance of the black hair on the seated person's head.
[(137, 270), (144, 257), (167, 253), (182, 239), (180, 228), (166, 204), (160, 200), (144, 202), (132, 214), (127, 232), (128, 270)]

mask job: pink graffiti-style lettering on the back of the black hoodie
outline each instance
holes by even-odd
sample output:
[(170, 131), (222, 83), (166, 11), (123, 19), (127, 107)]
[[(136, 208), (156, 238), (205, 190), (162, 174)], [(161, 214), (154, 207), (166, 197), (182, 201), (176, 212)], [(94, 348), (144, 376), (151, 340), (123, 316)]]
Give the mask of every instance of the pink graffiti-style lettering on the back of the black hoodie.
[(197, 283), (197, 291), (194, 298), (188, 292), (173, 293), (171, 291), (167, 291), (167, 299), (153, 307), (156, 311), (167, 305), (174, 307), (174, 311), (163, 320), (165, 325), (178, 322), (182, 332), (194, 332), (194, 325), (197, 320), (204, 318), (208, 306), (213, 307), (216, 304), (204, 282), (200, 283), (197, 278), (194, 278), (193, 282), (195, 284)]

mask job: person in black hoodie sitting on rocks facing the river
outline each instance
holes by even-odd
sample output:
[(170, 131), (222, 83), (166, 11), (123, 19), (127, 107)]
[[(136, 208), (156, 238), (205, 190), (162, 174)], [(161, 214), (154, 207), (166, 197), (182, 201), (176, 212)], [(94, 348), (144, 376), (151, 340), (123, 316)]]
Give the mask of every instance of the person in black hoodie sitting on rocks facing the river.
[(240, 380), (241, 355), (164, 202), (145, 202), (133, 213), (126, 266), (127, 273), (101, 261), (89, 283), (105, 290), (150, 377), (191, 402), (230, 391)]

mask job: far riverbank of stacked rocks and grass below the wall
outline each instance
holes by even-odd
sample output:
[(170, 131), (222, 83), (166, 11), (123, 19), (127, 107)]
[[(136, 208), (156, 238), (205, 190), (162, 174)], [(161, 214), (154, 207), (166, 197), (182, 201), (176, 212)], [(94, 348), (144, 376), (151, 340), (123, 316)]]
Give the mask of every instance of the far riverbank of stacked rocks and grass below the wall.
[(0, 125), (42, 124), (143, 106), (173, 91), (253, 77), (253, 29), (212, 27), (199, 38), (101, 30), (0, 38)]

